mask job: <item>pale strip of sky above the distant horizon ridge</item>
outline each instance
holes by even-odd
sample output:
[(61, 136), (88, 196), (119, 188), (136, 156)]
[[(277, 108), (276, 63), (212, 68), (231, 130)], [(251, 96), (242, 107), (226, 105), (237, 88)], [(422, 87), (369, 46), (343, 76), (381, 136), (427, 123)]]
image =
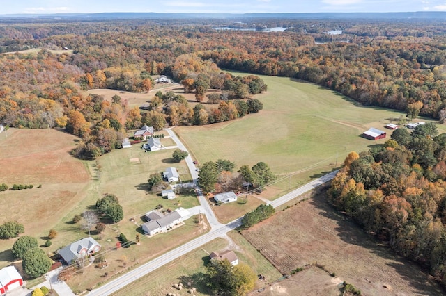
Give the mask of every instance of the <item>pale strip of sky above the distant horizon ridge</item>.
[(446, 11), (446, 0), (0, 0), (10, 13), (353, 13)]

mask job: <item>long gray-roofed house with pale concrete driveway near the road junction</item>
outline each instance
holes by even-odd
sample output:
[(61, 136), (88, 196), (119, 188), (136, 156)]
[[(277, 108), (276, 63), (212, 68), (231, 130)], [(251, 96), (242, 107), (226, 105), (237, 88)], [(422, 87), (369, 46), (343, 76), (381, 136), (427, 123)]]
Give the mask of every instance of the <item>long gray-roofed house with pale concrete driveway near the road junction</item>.
[(177, 208), (175, 211), (167, 213), (166, 215), (162, 215), (158, 211), (150, 211), (146, 213), (146, 218), (148, 222), (141, 225), (142, 230), (149, 236), (153, 236), (160, 232), (167, 232), (175, 226), (183, 224), (184, 220), (190, 218), (190, 213), (184, 208)]

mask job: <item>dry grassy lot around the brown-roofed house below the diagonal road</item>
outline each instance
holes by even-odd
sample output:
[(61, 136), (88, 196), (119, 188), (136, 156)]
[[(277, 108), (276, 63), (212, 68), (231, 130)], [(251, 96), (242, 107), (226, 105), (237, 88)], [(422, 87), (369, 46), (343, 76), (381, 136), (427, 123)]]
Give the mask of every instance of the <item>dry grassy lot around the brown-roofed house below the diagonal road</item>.
[(263, 274), (266, 277), (266, 281), (256, 282), (256, 289), (281, 277), (281, 274), (243, 236), (236, 232), (228, 233), (228, 236), (229, 241), (217, 238), (208, 242), (203, 247), (195, 249), (169, 265), (164, 265), (146, 277), (134, 281), (113, 295), (148, 296), (167, 295), (167, 293), (191, 295), (187, 293), (187, 288), (180, 291), (173, 287), (174, 283), (183, 283), (183, 286), (187, 287), (188, 282), (193, 283), (192, 286), (197, 288), (195, 295), (208, 295), (206, 286), (203, 286), (198, 278), (206, 273), (205, 264), (208, 262), (210, 252), (223, 251), (224, 249), (233, 249), (240, 263), (248, 264), (256, 274)]

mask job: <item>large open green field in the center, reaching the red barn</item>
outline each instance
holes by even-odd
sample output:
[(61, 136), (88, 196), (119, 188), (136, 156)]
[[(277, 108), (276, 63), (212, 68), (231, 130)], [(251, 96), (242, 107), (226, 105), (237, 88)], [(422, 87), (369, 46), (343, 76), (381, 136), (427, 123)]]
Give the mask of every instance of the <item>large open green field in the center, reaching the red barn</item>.
[(385, 129), (385, 124), (403, 115), (358, 106), (337, 92), (311, 83), (274, 76), (261, 78), (268, 85), (268, 92), (255, 96), (263, 103), (261, 112), (232, 122), (174, 129), (199, 163), (226, 158), (236, 163), (236, 169), (264, 161), (280, 176), (304, 171), (299, 178), (286, 179), (280, 185), (296, 187), (313, 174), (341, 165), (349, 152), (385, 142), (360, 135), (375, 127), (386, 131), (389, 139), (392, 131)]

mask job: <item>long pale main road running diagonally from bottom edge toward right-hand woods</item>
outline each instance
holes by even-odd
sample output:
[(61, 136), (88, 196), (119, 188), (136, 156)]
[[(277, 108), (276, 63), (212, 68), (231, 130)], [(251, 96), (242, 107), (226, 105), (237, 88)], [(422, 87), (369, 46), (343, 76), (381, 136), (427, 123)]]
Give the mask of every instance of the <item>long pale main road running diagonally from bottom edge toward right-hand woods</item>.
[[(289, 202), (291, 199), (298, 197), (299, 195), (302, 195), (303, 193), (316, 188), (322, 183), (330, 181), (331, 179), (334, 178), (336, 173), (337, 171), (331, 172), (330, 174), (326, 174), (325, 176), (322, 176), (319, 179), (311, 181), (307, 183), (305, 186), (293, 190), (292, 192), (289, 192), (283, 197), (279, 197), (270, 204), (275, 208), (277, 206), (281, 206), (282, 204)], [(137, 279), (144, 277), (146, 274), (153, 272), (153, 270), (160, 268), (162, 265), (170, 263), (171, 261), (174, 261), (176, 258), (179, 258), (180, 256), (183, 256), (184, 254), (187, 254), (188, 252), (197, 249), (202, 245), (205, 245), (207, 242), (210, 242), (211, 240), (214, 240), (215, 238), (223, 236), (227, 232), (236, 229), (241, 224), (240, 220), (241, 217), (225, 225), (219, 223), (220, 224), (219, 227), (213, 227), (213, 229), (210, 232), (203, 234), (203, 236), (195, 238), (194, 240), (191, 240), (190, 242), (187, 242), (184, 245), (181, 245), (180, 247), (177, 247), (176, 249), (173, 249), (158, 258), (155, 258), (152, 261), (149, 261), (148, 263), (139, 266), (139, 268), (135, 268), (134, 270), (131, 270), (126, 274), (123, 274), (121, 277), (118, 277), (113, 281), (109, 281), (109, 283), (106, 283), (104, 286), (100, 286), (99, 288), (91, 291), (89, 295), (104, 296), (115, 293), (124, 286), (127, 286), (130, 283), (132, 283), (132, 281), (136, 281)]]

